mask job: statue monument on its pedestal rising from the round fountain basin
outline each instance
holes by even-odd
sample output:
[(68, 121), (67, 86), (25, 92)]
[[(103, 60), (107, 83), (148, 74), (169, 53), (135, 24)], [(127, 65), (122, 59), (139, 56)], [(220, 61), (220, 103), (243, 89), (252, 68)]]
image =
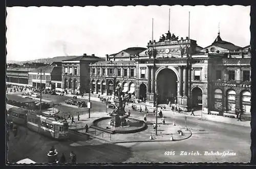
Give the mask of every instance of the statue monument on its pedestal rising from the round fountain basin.
[(110, 125), (114, 127), (119, 127), (119, 126), (127, 126), (127, 120), (128, 115), (125, 114), (124, 111), (124, 106), (123, 106), (123, 101), (121, 98), (122, 95), (122, 88), (118, 84), (116, 87), (116, 96), (118, 96), (118, 101), (115, 100), (115, 102), (118, 102), (118, 107), (111, 113), (111, 122)]

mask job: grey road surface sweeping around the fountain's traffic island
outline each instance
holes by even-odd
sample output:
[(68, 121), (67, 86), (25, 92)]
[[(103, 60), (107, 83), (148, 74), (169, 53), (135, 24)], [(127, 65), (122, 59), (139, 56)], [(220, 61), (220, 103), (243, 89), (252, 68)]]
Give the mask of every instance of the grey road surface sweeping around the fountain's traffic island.
[[(70, 99), (67, 96), (43, 94), (44, 99), (52, 100), (54, 103), (63, 103)], [(106, 106), (102, 102), (92, 101), (93, 107), (91, 113), (101, 111), (105, 112)], [(87, 108), (73, 108), (66, 106), (58, 106), (65, 112), (85, 111)], [(111, 109), (109, 109), (111, 111)], [(63, 113), (62, 113), (63, 114)], [(61, 115), (61, 113), (60, 113)], [(133, 112), (132, 115), (138, 118), (143, 114)], [(166, 114), (166, 123), (172, 123), (173, 118)], [(176, 117), (175, 123), (185, 126), (184, 117)], [(110, 144), (102, 143), (98, 140), (90, 140), (87, 136), (72, 134), (68, 141), (54, 141), (37, 133), (33, 133), (33, 137), (25, 137), (22, 140), (27, 142), (18, 143), (20, 146), (10, 144), (8, 158), (17, 161), (22, 158), (36, 158), (35, 161), (45, 161), (44, 157), (48, 149), (52, 145), (60, 151), (60, 153), (74, 150), (77, 153), (77, 162), (244, 162), (250, 160), (250, 128), (224, 124), (218, 122), (210, 122), (197, 118), (187, 118), (187, 128), (191, 130), (192, 136), (189, 139), (175, 142), (136, 142), (136, 143), (119, 143)], [(23, 136), (24, 137), (24, 136)], [(29, 143), (28, 143), (29, 142)], [(88, 144), (89, 143), (89, 144)], [(91, 144), (93, 145), (91, 145)], [(12, 145), (12, 146), (11, 146)], [(15, 149), (19, 147), (21, 153), (17, 153)], [(40, 148), (41, 147), (41, 148)], [(24, 149), (24, 150), (23, 150)], [(39, 151), (40, 150), (40, 151)], [(14, 152), (15, 151), (15, 152)], [(181, 155), (181, 152), (199, 152), (200, 155)], [(236, 155), (220, 156), (220, 155), (204, 155), (207, 152), (223, 151), (236, 153)], [(24, 153), (25, 152), (25, 153)], [(172, 152), (175, 155), (165, 155), (165, 152)], [(37, 155), (33, 155), (36, 153)]]

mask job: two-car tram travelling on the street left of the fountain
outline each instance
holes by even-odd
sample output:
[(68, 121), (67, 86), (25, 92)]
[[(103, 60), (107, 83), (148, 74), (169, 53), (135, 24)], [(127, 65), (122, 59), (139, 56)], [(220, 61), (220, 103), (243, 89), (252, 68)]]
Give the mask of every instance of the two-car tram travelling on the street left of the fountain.
[(37, 114), (23, 108), (7, 104), (7, 120), (54, 139), (68, 138), (69, 124), (59, 116)]

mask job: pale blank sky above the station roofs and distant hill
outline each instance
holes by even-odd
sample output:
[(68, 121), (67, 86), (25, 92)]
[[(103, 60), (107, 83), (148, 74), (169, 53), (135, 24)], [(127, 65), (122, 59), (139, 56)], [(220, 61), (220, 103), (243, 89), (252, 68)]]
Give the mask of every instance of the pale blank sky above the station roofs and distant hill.
[(128, 47), (146, 47), (169, 29), (201, 47), (218, 35), (250, 44), (250, 6), (7, 7), (7, 61), (83, 54), (104, 57)]

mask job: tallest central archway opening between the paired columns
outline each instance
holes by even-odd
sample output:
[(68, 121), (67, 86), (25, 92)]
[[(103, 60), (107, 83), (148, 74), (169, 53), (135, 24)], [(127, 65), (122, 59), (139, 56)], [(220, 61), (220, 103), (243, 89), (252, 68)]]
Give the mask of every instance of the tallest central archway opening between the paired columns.
[(175, 100), (177, 96), (177, 76), (172, 69), (164, 68), (157, 75), (158, 103)]

